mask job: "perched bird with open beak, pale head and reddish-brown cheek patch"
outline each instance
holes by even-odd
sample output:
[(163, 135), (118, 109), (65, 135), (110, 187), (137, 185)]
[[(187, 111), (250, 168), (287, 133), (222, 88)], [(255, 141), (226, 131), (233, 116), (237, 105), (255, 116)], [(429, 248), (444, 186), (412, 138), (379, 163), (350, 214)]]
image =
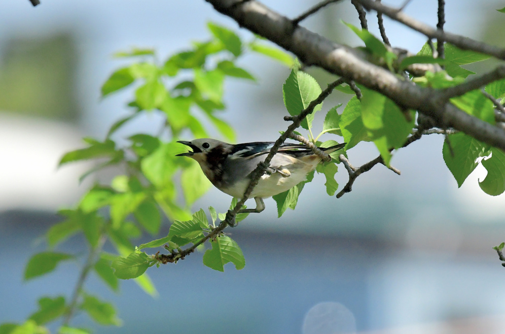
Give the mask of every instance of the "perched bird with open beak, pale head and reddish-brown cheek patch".
[[(222, 192), (241, 198), (251, 180), (251, 173), (259, 162), (265, 161), (274, 142), (252, 142), (228, 144), (216, 139), (195, 139), (178, 141), (193, 151), (177, 154), (189, 156), (200, 164), (201, 170), (212, 184)], [(345, 143), (320, 149), (331, 153), (345, 146)], [(321, 157), (303, 144), (284, 143), (270, 161), (267, 174), (252, 190), (249, 198), (256, 201), (255, 209), (239, 212), (261, 212), (265, 209), (263, 198), (277, 195), (305, 180), (313, 171)]]

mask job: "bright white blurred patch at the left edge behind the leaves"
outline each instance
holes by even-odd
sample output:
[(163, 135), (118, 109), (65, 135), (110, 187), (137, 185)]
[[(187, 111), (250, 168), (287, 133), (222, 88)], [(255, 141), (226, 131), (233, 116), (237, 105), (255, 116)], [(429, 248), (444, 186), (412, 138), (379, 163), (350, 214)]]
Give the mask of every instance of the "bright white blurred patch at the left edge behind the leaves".
[(79, 176), (90, 163), (58, 168), (65, 152), (82, 145), (82, 132), (69, 124), (0, 113), (0, 211), (56, 211), (75, 204), (89, 187)]

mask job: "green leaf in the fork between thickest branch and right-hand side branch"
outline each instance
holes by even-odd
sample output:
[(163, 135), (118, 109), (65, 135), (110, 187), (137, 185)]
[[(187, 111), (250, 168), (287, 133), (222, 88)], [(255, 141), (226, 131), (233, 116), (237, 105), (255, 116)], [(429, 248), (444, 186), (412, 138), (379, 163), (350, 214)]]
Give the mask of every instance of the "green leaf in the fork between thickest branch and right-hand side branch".
[(495, 123), (493, 102), (480, 90), (472, 90), (462, 96), (453, 97), (450, 102), (472, 116), (490, 124)]

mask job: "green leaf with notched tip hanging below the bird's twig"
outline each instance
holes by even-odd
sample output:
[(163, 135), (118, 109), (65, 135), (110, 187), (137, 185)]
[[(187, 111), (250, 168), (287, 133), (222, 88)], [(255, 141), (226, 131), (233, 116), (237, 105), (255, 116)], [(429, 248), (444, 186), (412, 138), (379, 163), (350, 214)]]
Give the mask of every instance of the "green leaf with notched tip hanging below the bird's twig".
[(214, 270), (224, 271), (224, 265), (232, 262), (237, 270), (245, 266), (244, 255), (237, 243), (230, 237), (217, 237), (211, 241), (212, 249), (204, 254), (204, 264)]

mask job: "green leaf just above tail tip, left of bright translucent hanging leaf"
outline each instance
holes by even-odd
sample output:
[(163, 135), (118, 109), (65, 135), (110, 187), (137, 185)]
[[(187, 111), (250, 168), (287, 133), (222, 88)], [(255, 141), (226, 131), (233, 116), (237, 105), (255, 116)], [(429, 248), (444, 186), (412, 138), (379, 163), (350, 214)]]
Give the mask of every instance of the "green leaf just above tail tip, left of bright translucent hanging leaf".
[(363, 125), (361, 118), (361, 102), (356, 96), (347, 102), (338, 124), (344, 141), (347, 143), (345, 149), (356, 146), (360, 141), (370, 141), (367, 128)]

